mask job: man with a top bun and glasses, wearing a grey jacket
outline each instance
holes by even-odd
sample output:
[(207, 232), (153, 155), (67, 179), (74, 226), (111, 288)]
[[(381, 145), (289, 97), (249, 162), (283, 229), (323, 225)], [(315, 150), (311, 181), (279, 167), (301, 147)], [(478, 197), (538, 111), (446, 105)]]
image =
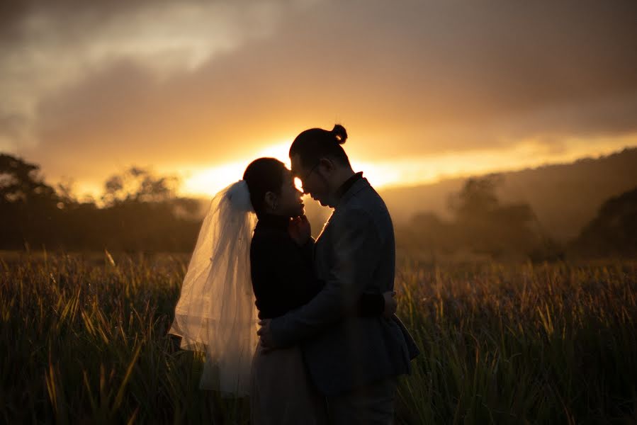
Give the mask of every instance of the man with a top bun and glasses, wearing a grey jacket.
[(300, 344), (312, 382), (334, 424), (391, 424), (396, 377), (418, 351), (398, 317), (359, 317), (361, 293), (393, 290), (395, 241), (385, 203), (342, 148), (345, 129), (312, 128), (290, 148), (303, 191), (334, 208), (315, 244), (325, 287), (298, 310), (261, 322), (265, 346)]

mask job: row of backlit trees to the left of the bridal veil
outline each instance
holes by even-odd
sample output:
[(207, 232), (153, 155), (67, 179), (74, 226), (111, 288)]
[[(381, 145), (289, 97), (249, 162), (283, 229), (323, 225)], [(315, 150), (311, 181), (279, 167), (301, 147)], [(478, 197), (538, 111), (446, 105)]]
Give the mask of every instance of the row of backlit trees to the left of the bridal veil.
[(201, 203), (175, 196), (178, 183), (131, 167), (98, 200), (78, 200), (68, 183), (45, 183), (37, 164), (0, 154), (0, 249), (191, 251)]

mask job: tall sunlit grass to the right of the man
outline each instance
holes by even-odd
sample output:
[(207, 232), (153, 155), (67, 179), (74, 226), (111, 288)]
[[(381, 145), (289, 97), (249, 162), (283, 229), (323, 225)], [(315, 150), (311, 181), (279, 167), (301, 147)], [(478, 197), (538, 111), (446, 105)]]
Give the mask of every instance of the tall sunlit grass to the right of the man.
[(399, 314), (422, 354), (400, 386), (401, 418), (637, 423), (636, 271), (406, 262)]

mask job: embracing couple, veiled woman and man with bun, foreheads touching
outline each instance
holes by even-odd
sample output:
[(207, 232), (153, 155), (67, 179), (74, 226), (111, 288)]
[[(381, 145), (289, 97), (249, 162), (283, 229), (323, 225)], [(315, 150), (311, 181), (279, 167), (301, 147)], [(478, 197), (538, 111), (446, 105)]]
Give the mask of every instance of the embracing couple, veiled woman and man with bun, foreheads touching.
[[(255, 425), (391, 424), (396, 378), (418, 353), (394, 314), (389, 212), (346, 139), (341, 125), (312, 128), (291, 170), (249, 164), (213, 198), (184, 278), (170, 333), (205, 351), (203, 389), (249, 395)], [(334, 209), (316, 240), (295, 178)]]

